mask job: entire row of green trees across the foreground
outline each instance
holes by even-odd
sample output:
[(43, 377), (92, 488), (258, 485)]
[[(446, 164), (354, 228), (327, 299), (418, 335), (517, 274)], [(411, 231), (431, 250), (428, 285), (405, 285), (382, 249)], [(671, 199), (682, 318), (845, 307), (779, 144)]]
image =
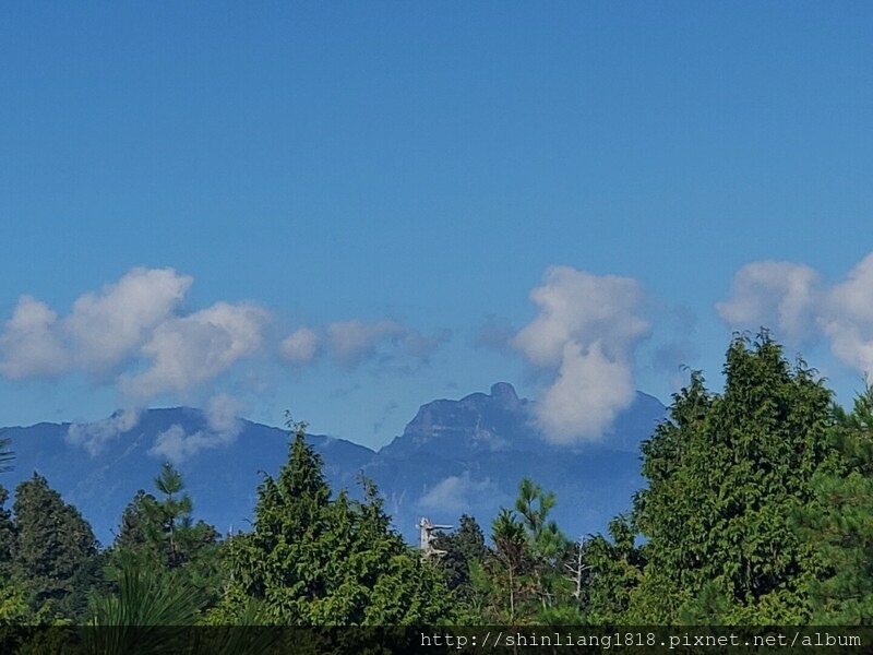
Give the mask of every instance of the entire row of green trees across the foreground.
[(641, 446), (643, 489), (581, 538), (524, 479), (486, 529), (463, 515), (423, 558), (372, 481), (361, 500), (330, 488), (290, 419), (235, 535), (195, 520), (169, 463), (107, 548), (44, 477), (11, 507), (0, 486), (0, 626), (872, 623), (873, 390), (840, 407), (767, 333), (736, 336), (723, 373), (714, 392), (691, 372)]

